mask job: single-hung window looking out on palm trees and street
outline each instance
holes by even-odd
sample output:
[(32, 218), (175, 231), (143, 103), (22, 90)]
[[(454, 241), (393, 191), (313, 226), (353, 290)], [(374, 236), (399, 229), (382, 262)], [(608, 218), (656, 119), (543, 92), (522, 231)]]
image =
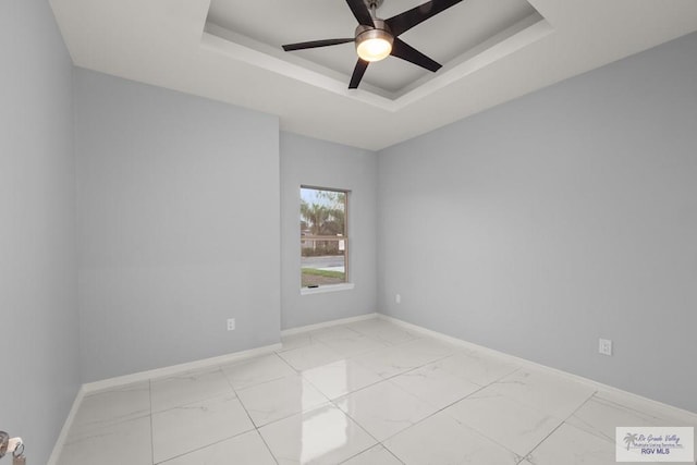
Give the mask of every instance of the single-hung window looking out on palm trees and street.
[(347, 282), (347, 200), (346, 191), (301, 186), (301, 287)]

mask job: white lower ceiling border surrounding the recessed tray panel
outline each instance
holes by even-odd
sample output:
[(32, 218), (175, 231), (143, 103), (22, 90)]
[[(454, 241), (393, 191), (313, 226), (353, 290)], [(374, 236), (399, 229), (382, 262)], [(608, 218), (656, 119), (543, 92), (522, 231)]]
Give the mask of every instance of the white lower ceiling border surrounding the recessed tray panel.
[[(345, 71), (217, 37), (205, 26), (209, 0), (49, 1), (77, 66), (276, 114), (284, 131), (371, 150), (697, 30), (696, 0), (527, 0), (537, 20), (390, 95), (368, 83), (350, 91)], [(345, 9), (343, 0), (293, 1)], [(274, 24), (284, 34), (283, 21)]]

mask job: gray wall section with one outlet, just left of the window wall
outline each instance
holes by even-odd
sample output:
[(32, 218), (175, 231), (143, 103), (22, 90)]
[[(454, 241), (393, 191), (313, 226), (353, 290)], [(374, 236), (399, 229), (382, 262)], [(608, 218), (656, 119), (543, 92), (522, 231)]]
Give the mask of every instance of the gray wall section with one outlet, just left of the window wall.
[(278, 119), (76, 70), (75, 125), (83, 380), (277, 343)]

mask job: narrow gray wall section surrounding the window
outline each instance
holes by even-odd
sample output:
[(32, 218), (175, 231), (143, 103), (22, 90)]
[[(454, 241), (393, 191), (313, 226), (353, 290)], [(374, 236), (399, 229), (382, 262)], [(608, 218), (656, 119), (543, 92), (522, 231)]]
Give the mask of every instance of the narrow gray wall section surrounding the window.
[[(351, 191), (350, 279), (355, 287), (301, 295), (299, 186)], [(376, 154), (281, 133), (281, 327), (296, 328), (376, 311)]]

